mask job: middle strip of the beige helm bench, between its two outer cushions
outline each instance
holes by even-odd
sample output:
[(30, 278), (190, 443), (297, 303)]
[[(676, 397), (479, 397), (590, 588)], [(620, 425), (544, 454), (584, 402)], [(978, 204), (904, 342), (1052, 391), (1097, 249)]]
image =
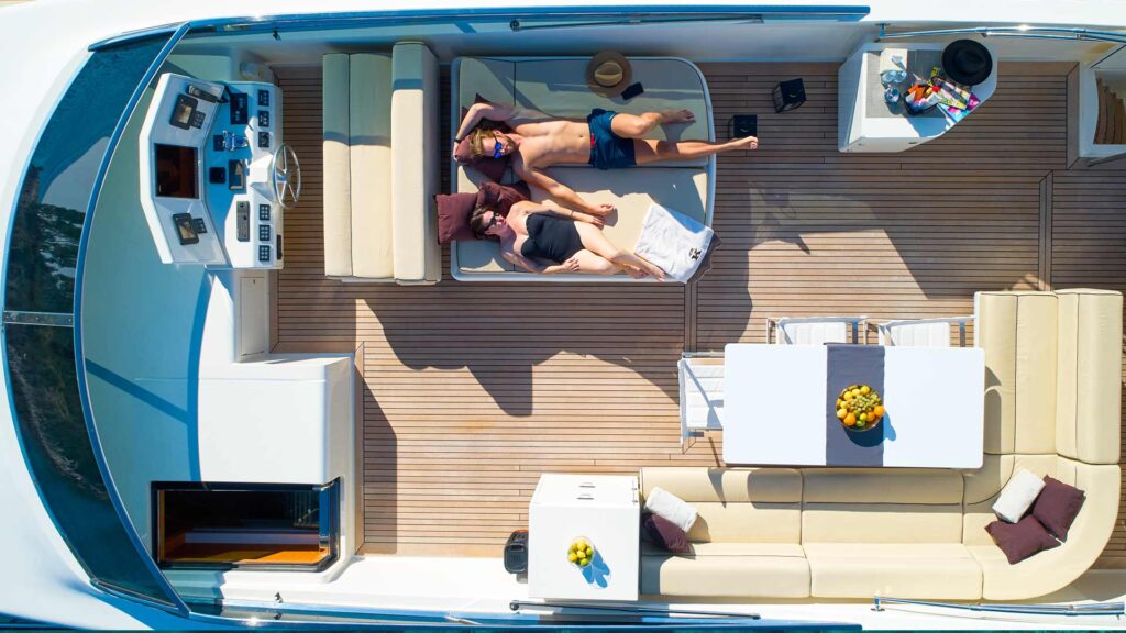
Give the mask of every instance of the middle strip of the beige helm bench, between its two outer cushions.
[(349, 55), (352, 275), (394, 276), (391, 220), (391, 55)]

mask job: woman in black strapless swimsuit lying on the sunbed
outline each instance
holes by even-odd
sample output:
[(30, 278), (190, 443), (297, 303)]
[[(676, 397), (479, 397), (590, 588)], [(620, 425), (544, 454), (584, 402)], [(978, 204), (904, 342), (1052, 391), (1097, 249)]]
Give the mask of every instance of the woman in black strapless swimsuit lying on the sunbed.
[(613, 275), (624, 270), (635, 279), (664, 280), (664, 270), (610, 243), (601, 226), (599, 217), (530, 202), (513, 204), (507, 219), (484, 206), (470, 217), (473, 234), (499, 241), (504, 259), (531, 273)]

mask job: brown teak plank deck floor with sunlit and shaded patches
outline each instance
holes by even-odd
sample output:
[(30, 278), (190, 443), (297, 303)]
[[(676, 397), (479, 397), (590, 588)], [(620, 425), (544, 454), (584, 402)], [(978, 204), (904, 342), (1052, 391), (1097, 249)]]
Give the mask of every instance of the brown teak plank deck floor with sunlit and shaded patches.
[[(978, 289), (1126, 291), (1126, 161), (1069, 169), (1073, 64), (1004, 63), (994, 97), (946, 136), (879, 154), (837, 151), (837, 64), (701, 68), (717, 136), (758, 114), (761, 148), (720, 157), (723, 246), (689, 287), (458, 283), (448, 250), (437, 286), (327, 279), (320, 69), (277, 69), (305, 177), (277, 344), (363, 346), (364, 551), (499, 555), (542, 472), (718, 464), (722, 433), (681, 448), (676, 362), (761, 342), (767, 316), (965, 315)], [(793, 77), (808, 101), (776, 115), (770, 88)], [(1123, 517), (1126, 503), (1101, 567), (1126, 567)]]

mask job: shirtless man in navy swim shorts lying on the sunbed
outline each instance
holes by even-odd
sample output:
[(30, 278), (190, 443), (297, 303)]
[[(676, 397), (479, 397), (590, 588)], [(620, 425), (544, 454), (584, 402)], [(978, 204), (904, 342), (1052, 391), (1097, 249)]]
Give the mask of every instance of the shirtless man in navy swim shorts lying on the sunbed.
[[(504, 134), (499, 130), (479, 126), (482, 121), (504, 123), (512, 132)], [(544, 189), (561, 205), (601, 216), (613, 212), (614, 205), (587, 203), (570, 187), (544, 173), (543, 169), (553, 164), (582, 163), (598, 169), (616, 169), (659, 160), (689, 160), (759, 146), (754, 136), (734, 139), (726, 143), (644, 139), (658, 125), (694, 121), (695, 116), (690, 110), (632, 115), (596, 108), (583, 123), (553, 119), (542, 113), (497, 104), (474, 104), (454, 135), (454, 151), (457, 155), (457, 145), (468, 137), (473, 158), (512, 154), (512, 169), (526, 182)]]

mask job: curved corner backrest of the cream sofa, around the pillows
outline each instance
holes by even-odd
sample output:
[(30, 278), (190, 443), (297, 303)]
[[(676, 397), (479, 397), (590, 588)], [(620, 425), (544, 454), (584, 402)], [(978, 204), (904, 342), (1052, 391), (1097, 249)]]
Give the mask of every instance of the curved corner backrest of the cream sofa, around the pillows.
[[(1079, 578), (1102, 553), (1118, 515), (1121, 473), (1117, 465), (1084, 464), (1065, 457), (1052, 474), (1087, 493), (1067, 541), (1017, 564), (1009, 564), (984, 526), (992, 520), (983, 505), (967, 507), (966, 542), (984, 572), (982, 597), (990, 600), (1025, 599), (1056, 591)], [(981, 535), (984, 534), (984, 537)]]

